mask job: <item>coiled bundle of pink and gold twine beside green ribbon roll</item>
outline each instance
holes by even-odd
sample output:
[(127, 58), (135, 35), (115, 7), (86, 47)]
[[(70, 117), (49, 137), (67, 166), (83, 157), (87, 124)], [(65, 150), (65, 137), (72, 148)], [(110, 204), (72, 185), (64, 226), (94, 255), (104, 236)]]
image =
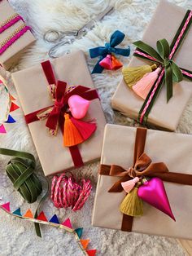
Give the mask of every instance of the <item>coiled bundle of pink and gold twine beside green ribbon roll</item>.
[(76, 182), (72, 174), (56, 175), (51, 183), (50, 198), (57, 208), (69, 208), (73, 211), (81, 210), (87, 201), (92, 186), (90, 181), (81, 180), (81, 185)]

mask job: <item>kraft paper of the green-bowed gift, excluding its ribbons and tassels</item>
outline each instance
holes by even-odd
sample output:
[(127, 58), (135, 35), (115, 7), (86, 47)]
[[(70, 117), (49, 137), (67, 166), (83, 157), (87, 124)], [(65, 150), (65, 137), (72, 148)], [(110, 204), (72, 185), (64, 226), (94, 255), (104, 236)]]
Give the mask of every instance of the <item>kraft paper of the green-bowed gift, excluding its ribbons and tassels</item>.
[[(161, 0), (143, 35), (142, 42), (145, 42), (155, 50), (156, 42), (160, 39), (166, 38), (170, 45), (185, 17), (185, 14), (185, 9), (177, 7), (170, 2)], [(191, 12), (188, 13), (188, 15), (190, 15), (189, 24), (191, 24)], [(172, 59), (180, 68), (185, 68), (190, 71), (192, 71), (192, 51), (190, 51), (191, 44), (192, 29), (190, 26), (185, 39)], [(152, 62), (138, 58), (138, 56), (133, 56), (129, 66), (137, 67), (145, 64), (152, 64)], [(184, 78), (181, 82), (174, 82), (173, 96), (167, 103), (166, 86), (163, 85), (159, 95), (157, 95), (153, 107), (151, 108), (146, 125), (150, 127), (158, 127), (161, 130), (176, 130), (185, 105), (190, 99), (191, 92), (192, 86), (189, 80)], [(141, 109), (143, 104), (144, 99), (136, 95), (134, 91), (126, 85), (124, 79), (122, 79), (117, 87), (115, 95), (113, 95), (111, 99), (112, 108), (118, 110), (124, 116), (137, 120), (139, 113), (140, 115), (144, 113), (144, 110)], [(142, 120), (140, 117), (138, 120), (145, 125), (145, 117)]]

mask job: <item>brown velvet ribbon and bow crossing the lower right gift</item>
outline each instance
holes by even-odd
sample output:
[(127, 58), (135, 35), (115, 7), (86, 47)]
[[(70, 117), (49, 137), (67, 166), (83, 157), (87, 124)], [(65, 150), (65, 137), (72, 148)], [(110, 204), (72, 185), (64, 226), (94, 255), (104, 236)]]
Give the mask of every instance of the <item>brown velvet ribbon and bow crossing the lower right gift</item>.
[[(192, 186), (192, 175), (168, 172), (168, 167), (164, 162), (152, 163), (151, 158), (144, 153), (146, 143), (146, 128), (137, 128), (133, 167), (125, 170), (121, 166), (116, 165), (101, 165), (99, 174), (120, 177), (116, 183), (109, 189), (108, 192), (122, 192), (124, 189), (121, 186), (122, 182), (133, 179), (134, 177), (158, 177), (167, 182), (179, 183)], [(133, 225), (133, 217), (123, 214), (121, 230), (131, 232)]]

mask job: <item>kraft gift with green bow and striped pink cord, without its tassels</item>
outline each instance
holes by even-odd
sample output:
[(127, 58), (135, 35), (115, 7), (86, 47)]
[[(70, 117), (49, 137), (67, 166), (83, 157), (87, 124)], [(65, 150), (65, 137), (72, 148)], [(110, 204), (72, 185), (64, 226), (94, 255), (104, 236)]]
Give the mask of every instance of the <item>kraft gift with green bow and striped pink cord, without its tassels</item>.
[[(192, 91), (191, 23), (192, 11), (185, 11), (164, 0), (159, 2), (142, 42), (134, 43), (137, 48), (129, 64), (134, 68), (146, 64), (153, 68), (156, 64), (156, 67), (159, 66), (158, 78), (152, 88), (150, 87), (146, 99), (142, 99), (138, 91), (137, 95), (129, 87), (132, 84), (128, 85), (125, 82), (128, 78), (125, 77), (111, 99), (112, 108), (139, 121), (142, 125), (176, 130)], [(141, 95), (143, 96), (143, 92)]]

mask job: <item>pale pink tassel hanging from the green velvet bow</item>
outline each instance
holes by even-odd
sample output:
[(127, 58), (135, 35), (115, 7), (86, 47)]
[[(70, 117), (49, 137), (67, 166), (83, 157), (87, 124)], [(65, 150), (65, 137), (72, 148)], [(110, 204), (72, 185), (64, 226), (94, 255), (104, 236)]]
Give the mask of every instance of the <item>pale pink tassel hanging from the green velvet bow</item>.
[(151, 73), (146, 73), (141, 80), (139, 80), (132, 88), (134, 92), (140, 96), (142, 99), (146, 99), (146, 96), (149, 94), (152, 86), (154, 85), (161, 68), (155, 69)]

